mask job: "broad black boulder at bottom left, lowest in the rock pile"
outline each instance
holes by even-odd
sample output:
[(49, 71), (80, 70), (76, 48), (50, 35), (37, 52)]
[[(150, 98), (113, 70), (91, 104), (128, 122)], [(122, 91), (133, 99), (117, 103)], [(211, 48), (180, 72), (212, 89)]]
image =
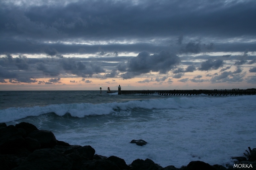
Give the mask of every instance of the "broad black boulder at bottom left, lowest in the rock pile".
[(68, 156), (53, 149), (38, 149), (31, 153), (18, 167), (13, 170), (24, 169), (63, 169), (70, 170), (73, 161)]

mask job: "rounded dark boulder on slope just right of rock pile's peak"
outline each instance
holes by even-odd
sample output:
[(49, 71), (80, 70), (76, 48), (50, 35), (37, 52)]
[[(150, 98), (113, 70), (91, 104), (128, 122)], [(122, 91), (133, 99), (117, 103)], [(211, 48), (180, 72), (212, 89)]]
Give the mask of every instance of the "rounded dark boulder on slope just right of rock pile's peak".
[(42, 148), (52, 148), (57, 144), (54, 134), (48, 130), (34, 130), (28, 137), (38, 140)]

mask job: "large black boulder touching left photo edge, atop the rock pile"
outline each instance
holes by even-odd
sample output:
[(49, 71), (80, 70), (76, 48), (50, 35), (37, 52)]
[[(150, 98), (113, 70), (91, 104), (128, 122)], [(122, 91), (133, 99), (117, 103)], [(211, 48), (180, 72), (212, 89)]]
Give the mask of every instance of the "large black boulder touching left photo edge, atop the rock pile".
[(25, 145), (24, 138), (15, 126), (10, 125), (5, 128), (0, 128), (0, 153), (10, 154)]

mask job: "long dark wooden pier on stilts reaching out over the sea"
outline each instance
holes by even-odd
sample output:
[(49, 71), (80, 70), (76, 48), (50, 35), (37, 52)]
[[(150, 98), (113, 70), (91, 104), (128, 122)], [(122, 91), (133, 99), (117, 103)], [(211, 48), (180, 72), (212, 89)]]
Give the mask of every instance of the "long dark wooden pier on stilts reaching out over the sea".
[(205, 94), (209, 96), (256, 95), (255, 89), (232, 90), (121, 90), (118, 94), (159, 94), (163, 96), (188, 96)]

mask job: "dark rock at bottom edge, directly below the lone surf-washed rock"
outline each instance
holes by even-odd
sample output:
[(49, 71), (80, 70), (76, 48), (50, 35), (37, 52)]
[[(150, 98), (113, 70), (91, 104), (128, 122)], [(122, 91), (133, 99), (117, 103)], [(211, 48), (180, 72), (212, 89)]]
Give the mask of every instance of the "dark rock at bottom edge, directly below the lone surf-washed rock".
[(132, 168), (130, 170), (157, 170), (163, 168), (155, 164), (151, 159), (136, 159), (132, 162), (131, 166)]

